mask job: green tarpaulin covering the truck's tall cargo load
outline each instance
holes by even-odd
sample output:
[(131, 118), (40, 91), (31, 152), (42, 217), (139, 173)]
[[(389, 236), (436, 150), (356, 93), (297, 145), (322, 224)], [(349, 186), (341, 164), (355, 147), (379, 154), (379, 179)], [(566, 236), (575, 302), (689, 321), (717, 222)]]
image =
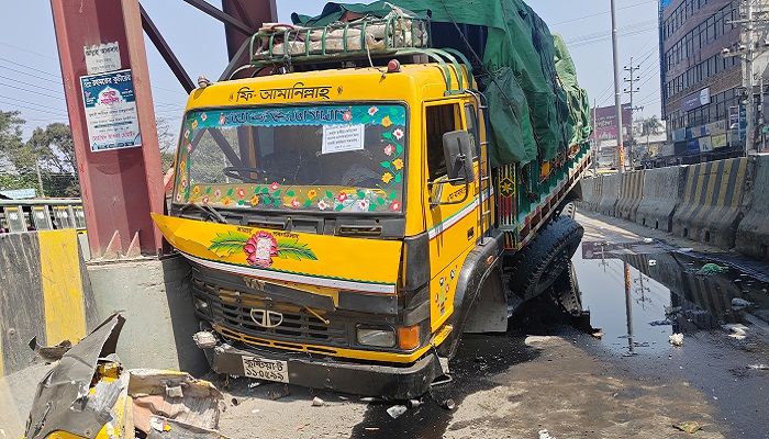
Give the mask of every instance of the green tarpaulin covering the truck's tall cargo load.
[[(392, 0), (370, 4), (328, 3), (321, 15), (293, 14), (294, 24), (322, 26), (359, 15), (384, 16), (394, 4), (420, 15), (431, 13), (432, 22), (458, 34), (457, 29), (482, 26), (486, 42), (468, 47), (453, 40), (453, 47), (470, 59), (477, 54), (482, 71), (478, 82), (489, 100), (491, 159), (494, 166), (553, 160), (569, 145), (582, 143), (590, 134), (587, 93), (577, 82), (575, 66), (566, 46), (521, 0)], [(436, 35), (433, 40), (445, 38)], [(456, 41), (461, 42), (457, 44)], [(441, 48), (441, 45), (436, 44)], [(478, 63), (480, 61), (480, 63)]]

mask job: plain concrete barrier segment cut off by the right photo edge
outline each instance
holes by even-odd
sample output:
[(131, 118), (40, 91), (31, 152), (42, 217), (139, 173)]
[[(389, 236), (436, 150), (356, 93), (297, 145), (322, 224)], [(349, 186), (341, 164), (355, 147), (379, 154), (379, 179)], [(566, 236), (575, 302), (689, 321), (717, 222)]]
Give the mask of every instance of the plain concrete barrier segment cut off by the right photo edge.
[(749, 210), (737, 227), (736, 247), (747, 256), (769, 260), (769, 156), (755, 160), (755, 178), (746, 193)]

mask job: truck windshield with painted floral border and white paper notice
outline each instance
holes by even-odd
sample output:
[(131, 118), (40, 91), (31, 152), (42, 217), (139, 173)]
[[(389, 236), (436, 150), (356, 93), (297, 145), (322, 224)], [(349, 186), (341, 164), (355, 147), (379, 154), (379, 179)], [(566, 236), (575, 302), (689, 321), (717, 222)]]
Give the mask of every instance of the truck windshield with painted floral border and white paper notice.
[(259, 211), (402, 212), (403, 105), (193, 111), (175, 201)]

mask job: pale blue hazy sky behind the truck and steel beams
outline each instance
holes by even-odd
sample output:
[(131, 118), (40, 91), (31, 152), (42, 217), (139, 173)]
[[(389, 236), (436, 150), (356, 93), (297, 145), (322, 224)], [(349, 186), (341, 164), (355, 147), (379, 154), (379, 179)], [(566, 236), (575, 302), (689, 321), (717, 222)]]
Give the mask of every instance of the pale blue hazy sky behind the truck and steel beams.
[[(365, 1), (365, 0), (359, 0)], [(495, 0), (488, 0), (495, 1)], [(216, 0), (209, 0), (221, 7)], [(227, 64), (223, 25), (181, 0), (141, 0), (149, 16), (193, 78), (215, 79)], [(277, 0), (279, 21), (291, 12), (316, 15), (325, 0)], [(613, 105), (610, 0), (528, 0), (564, 36), (577, 65), (580, 85), (591, 102)], [(616, 0), (621, 67), (640, 69), (636, 117), (660, 114), (657, 0)], [(176, 131), (187, 94), (159, 54), (145, 38), (158, 117)], [(628, 97), (623, 95), (623, 102)], [(18, 110), (26, 121), (24, 137), (36, 126), (67, 122), (58, 53), (48, 0), (13, 1), (0, 14), (0, 110)]]

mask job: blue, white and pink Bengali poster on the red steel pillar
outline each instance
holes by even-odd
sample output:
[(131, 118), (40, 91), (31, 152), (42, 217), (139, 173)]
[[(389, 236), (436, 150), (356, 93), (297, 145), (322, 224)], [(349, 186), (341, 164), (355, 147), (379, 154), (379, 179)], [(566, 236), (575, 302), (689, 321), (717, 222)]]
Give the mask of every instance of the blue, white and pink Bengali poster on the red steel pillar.
[(80, 77), (91, 151), (142, 146), (131, 70)]

